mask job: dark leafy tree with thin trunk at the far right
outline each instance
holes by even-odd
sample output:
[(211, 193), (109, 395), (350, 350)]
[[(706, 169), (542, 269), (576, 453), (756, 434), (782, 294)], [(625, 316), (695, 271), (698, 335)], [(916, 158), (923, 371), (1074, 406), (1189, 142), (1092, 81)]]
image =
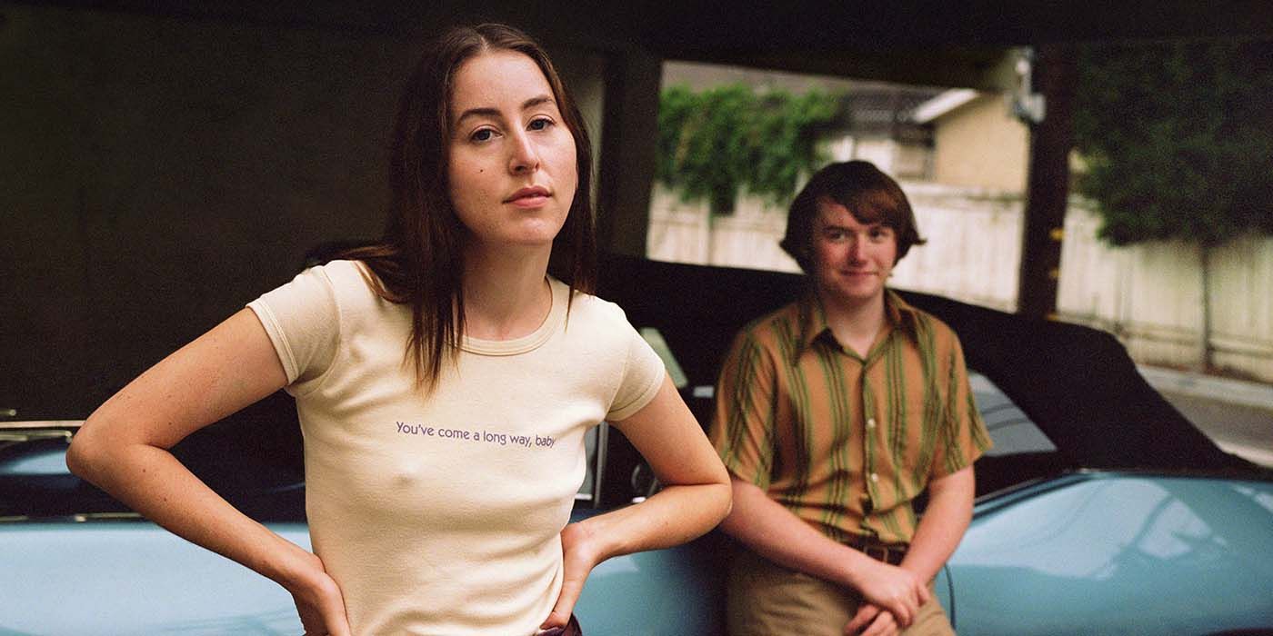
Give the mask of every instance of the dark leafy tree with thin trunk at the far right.
[(1077, 190), (1115, 245), (1199, 247), (1211, 368), (1211, 251), (1273, 234), (1273, 42), (1090, 46), (1078, 62)]

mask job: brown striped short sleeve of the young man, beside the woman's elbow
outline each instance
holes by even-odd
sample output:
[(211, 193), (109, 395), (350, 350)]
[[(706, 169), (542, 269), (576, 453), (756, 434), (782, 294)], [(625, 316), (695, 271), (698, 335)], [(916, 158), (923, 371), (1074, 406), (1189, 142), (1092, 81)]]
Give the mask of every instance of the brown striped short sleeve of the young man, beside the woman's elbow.
[(721, 366), (708, 439), (735, 477), (769, 488), (774, 457), (775, 366), (750, 332)]

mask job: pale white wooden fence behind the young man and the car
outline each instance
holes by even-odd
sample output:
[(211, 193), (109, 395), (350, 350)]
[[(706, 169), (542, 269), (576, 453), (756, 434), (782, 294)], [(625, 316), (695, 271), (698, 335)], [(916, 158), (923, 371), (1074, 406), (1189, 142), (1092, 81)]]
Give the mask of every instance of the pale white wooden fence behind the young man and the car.
[[(1021, 262), (1022, 198), (976, 188), (904, 182), (928, 244), (910, 251), (892, 285), (1015, 310)], [(728, 216), (656, 187), (651, 258), (798, 271), (778, 240), (782, 206), (740, 197)], [(1062, 249), (1058, 314), (1116, 335), (1139, 363), (1194, 368), (1202, 359), (1198, 248), (1151, 243), (1111, 248), (1096, 238), (1099, 219), (1071, 204)], [(1228, 373), (1273, 382), (1273, 238), (1246, 237), (1213, 251), (1213, 363)]]

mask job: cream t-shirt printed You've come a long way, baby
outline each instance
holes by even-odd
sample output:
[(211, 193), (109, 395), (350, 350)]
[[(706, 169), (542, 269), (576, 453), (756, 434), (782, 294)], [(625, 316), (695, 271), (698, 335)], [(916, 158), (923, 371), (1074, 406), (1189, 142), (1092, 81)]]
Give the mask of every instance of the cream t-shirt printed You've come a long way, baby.
[(665, 370), (621, 309), (550, 279), (533, 333), (465, 338), (424, 396), (404, 364), (411, 312), (363, 266), (306, 270), (248, 307), (304, 435), (314, 552), (358, 635), (530, 635), (561, 588), (559, 533), (583, 434), (645, 406)]

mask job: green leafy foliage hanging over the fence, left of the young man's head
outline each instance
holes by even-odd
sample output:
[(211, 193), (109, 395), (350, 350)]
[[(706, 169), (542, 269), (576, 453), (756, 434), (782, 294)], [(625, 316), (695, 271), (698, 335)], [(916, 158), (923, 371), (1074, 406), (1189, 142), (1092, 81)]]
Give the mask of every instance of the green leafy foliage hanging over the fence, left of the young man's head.
[(801, 173), (822, 160), (817, 134), (838, 116), (838, 99), (821, 92), (670, 88), (659, 103), (656, 178), (685, 200), (707, 198), (713, 212), (732, 211), (740, 190), (789, 198)]

